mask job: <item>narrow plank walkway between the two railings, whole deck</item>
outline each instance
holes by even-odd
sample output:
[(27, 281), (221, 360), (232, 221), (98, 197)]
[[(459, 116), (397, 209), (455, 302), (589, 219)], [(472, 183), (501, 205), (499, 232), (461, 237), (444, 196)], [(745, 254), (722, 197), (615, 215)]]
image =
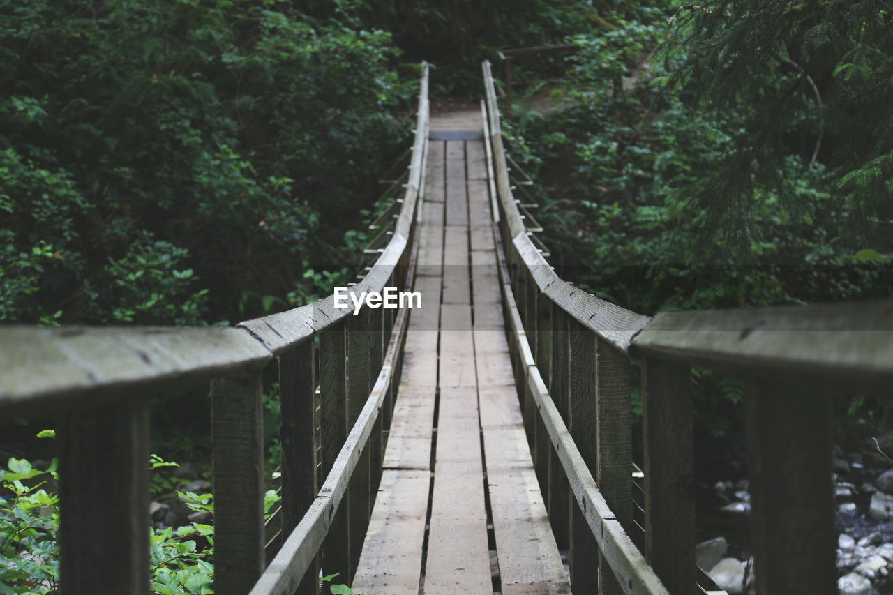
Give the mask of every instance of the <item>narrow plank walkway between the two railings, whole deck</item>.
[[(480, 113), (431, 121), (416, 290), (353, 587), (570, 593), (505, 340)], [(431, 473), (433, 472), (433, 473)]]

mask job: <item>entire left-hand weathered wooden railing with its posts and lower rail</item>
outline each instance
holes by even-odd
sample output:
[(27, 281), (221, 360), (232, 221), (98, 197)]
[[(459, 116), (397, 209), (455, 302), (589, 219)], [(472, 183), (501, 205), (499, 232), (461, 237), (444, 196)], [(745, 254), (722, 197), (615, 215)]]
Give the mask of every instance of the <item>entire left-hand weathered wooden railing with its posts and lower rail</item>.
[[(357, 292), (412, 281), (428, 117), (425, 66), (400, 214)], [(399, 379), (406, 314), (394, 312), (354, 316), (330, 296), (236, 328), (0, 329), (0, 413), (58, 415), (63, 592), (148, 592), (148, 399), (203, 381), (211, 382), (214, 592), (290, 595), (299, 582), (315, 592), (320, 549), (326, 572), (347, 580)], [(287, 537), (264, 570), (261, 397), (273, 358)]]

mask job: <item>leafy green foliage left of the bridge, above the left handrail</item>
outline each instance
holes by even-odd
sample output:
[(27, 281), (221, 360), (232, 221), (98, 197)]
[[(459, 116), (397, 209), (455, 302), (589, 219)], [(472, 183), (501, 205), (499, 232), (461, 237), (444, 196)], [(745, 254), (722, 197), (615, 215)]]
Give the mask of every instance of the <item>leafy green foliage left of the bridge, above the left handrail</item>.
[(271, 2), (0, 9), (0, 320), (284, 307), (404, 142), (395, 55)]

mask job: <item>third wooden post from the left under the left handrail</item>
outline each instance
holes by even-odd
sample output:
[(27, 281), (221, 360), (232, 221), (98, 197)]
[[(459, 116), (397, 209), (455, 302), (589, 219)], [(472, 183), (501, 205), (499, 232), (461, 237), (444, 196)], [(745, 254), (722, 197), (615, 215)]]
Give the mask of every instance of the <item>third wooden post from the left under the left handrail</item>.
[[(316, 477), (316, 381), (313, 338), (279, 358), (280, 448), (282, 453), (282, 540), (295, 529), (319, 490)], [(298, 595), (319, 591), (319, 557)]]

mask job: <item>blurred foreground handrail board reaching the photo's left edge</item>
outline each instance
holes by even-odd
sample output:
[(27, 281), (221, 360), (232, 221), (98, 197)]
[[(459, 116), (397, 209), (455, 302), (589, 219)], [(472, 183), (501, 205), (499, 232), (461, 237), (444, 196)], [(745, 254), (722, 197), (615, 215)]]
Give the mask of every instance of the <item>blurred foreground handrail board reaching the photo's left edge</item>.
[(270, 352), (231, 328), (0, 328), (0, 410), (95, 406), (256, 369)]

